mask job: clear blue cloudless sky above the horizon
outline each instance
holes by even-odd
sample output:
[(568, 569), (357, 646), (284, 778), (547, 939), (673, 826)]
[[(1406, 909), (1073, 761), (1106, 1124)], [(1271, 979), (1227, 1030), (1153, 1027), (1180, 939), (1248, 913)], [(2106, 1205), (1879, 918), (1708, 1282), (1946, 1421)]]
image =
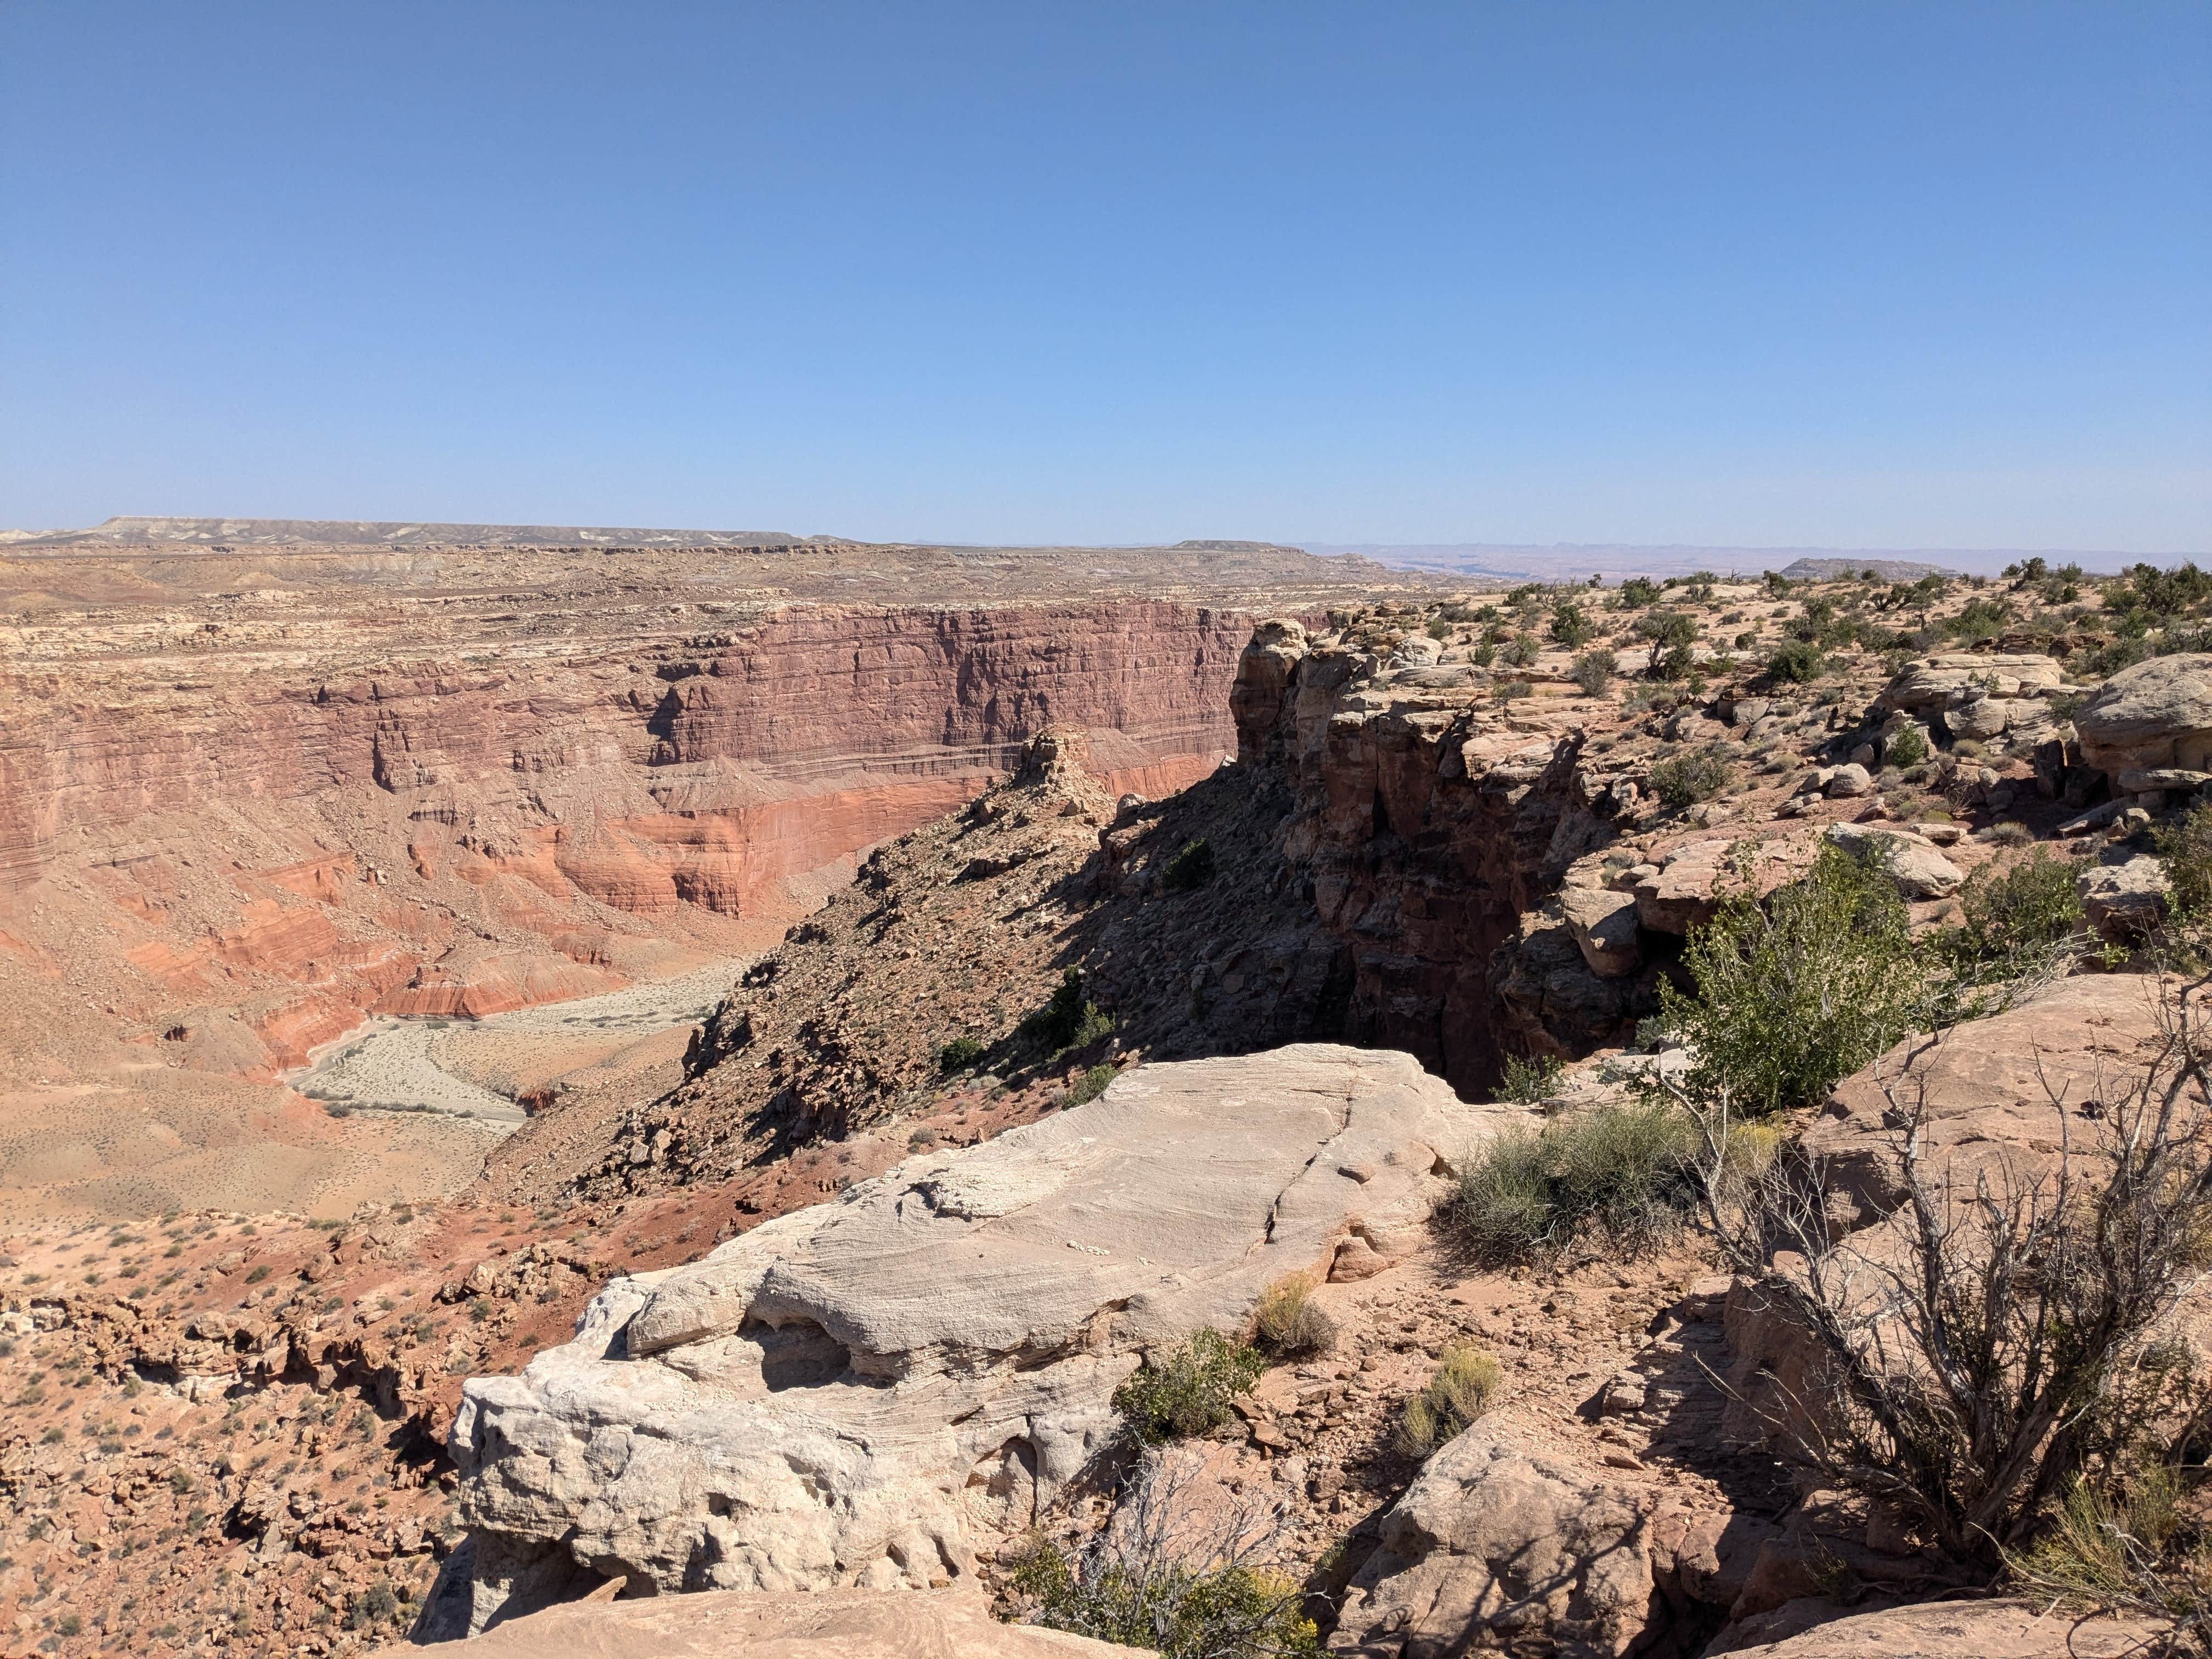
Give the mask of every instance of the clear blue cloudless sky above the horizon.
[(0, 0), (0, 524), (2212, 546), (2212, 4)]

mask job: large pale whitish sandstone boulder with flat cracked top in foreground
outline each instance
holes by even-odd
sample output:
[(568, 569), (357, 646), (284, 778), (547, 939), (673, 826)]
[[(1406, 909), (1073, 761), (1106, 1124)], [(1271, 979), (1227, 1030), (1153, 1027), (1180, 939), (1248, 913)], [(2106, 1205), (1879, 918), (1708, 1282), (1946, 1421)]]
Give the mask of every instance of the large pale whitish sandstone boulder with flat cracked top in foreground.
[[(1301, 1044), (1139, 1066), (1088, 1106), (907, 1159), (688, 1267), (453, 1420), (478, 1562), (661, 1590), (922, 1588), (1026, 1528), (1115, 1440), (1115, 1387), (1285, 1274), (1422, 1239), (1502, 1108), (1409, 1055)], [(573, 1593), (573, 1590), (568, 1590)], [(551, 1597), (549, 1597), (551, 1599)]]

